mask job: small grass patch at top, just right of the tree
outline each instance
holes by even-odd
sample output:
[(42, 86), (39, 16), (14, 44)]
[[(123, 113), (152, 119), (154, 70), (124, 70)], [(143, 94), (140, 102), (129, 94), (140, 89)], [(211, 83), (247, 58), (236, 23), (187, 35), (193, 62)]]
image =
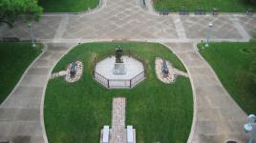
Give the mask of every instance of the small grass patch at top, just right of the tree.
[(39, 0), (45, 12), (79, 12), (96, 8), (98, 0)]

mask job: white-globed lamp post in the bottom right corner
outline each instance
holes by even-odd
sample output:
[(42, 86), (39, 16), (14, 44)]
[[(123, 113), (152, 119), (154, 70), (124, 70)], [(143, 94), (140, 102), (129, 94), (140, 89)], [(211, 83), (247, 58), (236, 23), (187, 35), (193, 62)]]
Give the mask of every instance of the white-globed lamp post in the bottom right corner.
[(251, 133), (249, 142), (252, 143), (253, 139), (256, 138), (256, 116), (254, 114), (248, 115), (248, 123), (245, 124), (245, 133)]

